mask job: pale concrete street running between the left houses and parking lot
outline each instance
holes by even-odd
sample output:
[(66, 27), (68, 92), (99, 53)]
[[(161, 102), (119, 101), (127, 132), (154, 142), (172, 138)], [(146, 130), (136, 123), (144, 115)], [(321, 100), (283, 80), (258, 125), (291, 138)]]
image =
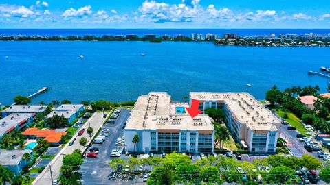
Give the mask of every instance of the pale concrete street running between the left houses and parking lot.
[[(93, 127), (93, 130), (96, 132), (98, 130), (98, 128), (103, 125), (103, 113), (96, 112), (95, 114), (93, 114), (93, 116), (91, 116), (91, 118), (89, 118), (88, 121), (85, 123), (85, 125), (83, 125), (83, 127), (81, 127), (80, 129), (85, 128), (85, 130), (87, 130), (89, 125), (91, 127)], [(77, 138), (76, 141), (74, 142), (74, 145), (72, 145), (72, 146), (66, 145), (56, 155), (54, 160), (52, 160), (52, 162), (50, 162), (50, 165), (52, 168), (53, 180), (56, 180), (60, 174), (60, 169), (63, 164), (62, 160), (63, 160), (64, 155), (73, 153), (75, 149), (80, 149), (81, 151), (83, 151), (84, 147), (80, 145), (79, 139), (81, 137), (85, 137), (85, 138), (87, 138), (87, 143), (89, 143), (90, 137), (89, 137), (89, 134), (87, 134), (87, 132), (84, 132), (84, 134), (82, 136), (77, 136), (77, 134), (78, 134), (78, 132), (76, 133), (76, 135), (73, 136), (73, 138)], [(43, 172), (40, 173), (40, 175), (38, 177), (36, 177), (36, 180), (34, 180), (34, 182), (32, 184), (36, 184), (36, 185), (52, 184), (50, 165), (47, 165), (47, 167), (45, 167)]]

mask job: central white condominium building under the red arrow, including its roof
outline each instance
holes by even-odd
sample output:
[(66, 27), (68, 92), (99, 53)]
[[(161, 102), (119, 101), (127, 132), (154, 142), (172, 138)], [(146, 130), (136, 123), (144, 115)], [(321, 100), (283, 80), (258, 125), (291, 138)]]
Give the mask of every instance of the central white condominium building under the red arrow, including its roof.
[[(208, 115), (194, 119), (186, 113), (188, 103), (171, 103), (164, 92), (138, 97), (127, 121), (126, 151), (210, 153), (214, 147), (214, 127)], [(139, 142), (133, 143), (137, 135)]]

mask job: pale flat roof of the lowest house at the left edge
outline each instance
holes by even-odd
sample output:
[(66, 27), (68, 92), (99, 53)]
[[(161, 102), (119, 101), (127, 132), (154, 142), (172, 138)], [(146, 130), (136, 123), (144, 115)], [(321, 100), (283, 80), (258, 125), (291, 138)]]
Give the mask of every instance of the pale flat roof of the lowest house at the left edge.
[(3, 166), (17, 165), (24, 153), (32, 153), (30, 149), (0, 149), (0, 164)]

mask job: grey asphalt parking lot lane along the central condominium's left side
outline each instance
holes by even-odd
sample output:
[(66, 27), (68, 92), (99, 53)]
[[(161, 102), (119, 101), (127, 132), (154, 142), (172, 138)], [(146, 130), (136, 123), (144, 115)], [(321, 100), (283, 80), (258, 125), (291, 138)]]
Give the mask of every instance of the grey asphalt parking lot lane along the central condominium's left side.
[[(80, 166), (79, 173), (83, 175), (83, 184), (111, 184), (113, 181), (109, 180), (109, 175), (112, 171), (109, 167), (110, 153), (115, 146), (117, 138), (124, 135), (122, 125), (129, 118), (131, 110), (122, 109), (119, 116), (115, 120), (115, 124), (107, 123), (102, 128), (109, 129), (109, 136), (102, 144), (93, 144), (93, 147), (98, 147), (99, 152), (96, 158), (85, 158), (83, 164)], [(123, 154), (122, 154), (123, 156)], [(118, 184), (117, 182), (115, 184)]]

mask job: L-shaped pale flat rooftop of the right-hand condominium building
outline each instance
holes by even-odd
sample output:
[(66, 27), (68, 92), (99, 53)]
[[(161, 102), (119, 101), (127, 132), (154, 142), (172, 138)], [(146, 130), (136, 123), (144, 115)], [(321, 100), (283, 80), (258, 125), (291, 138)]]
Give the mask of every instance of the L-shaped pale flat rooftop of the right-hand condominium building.
[(250, 93), (191, 92), (191, 99), (226, 103), (234, 119), (246, 123), (251, 130), (277, 130), (274, 124), (281, 121)]

